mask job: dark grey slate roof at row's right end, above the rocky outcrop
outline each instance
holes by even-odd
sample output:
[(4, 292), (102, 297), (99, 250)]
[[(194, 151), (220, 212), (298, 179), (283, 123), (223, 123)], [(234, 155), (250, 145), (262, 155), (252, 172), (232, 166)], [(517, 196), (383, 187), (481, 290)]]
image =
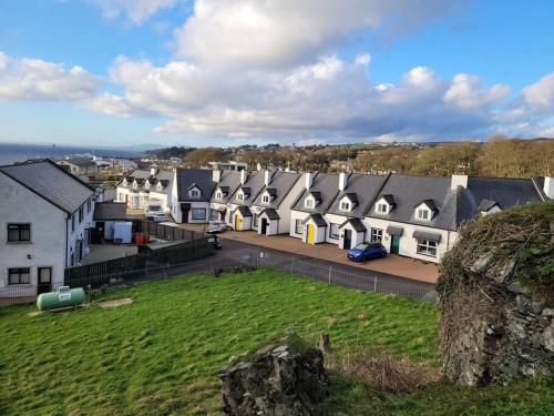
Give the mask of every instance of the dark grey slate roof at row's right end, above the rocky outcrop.
[(468, 177), (468, 189), (460, 194), (459, 223), (479, 215), (483, 201), (494, 201), (503, 210), (541, 201), (531, 179)]

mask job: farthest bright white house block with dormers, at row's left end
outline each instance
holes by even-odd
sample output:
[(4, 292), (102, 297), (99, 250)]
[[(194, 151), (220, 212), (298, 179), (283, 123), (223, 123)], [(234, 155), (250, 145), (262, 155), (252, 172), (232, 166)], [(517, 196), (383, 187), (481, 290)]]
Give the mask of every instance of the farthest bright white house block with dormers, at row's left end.
[(172, 210), (173, 172), (161, 171), (156, 164), (150, 170), (134, 170), (117, 184), (117, 202), (132, 209), (145, 209), (151, 200), (160, 201), (162, 210)]

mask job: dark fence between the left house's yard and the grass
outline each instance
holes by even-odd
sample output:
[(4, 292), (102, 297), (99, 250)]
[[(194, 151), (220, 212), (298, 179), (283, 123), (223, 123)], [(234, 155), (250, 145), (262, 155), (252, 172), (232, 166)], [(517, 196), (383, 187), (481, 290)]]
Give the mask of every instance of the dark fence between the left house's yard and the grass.
[(105, 262), (86, 264), (65, 270), (64, 283), (71, 287), (91, 285), (93, 288), (121, 281), (138, 281), (167, 275), (167, 271), (176, 265), (212, 254), (213, 237), (177, 243), (152, 244), (141, 247), (137, 254), (112, 258)]

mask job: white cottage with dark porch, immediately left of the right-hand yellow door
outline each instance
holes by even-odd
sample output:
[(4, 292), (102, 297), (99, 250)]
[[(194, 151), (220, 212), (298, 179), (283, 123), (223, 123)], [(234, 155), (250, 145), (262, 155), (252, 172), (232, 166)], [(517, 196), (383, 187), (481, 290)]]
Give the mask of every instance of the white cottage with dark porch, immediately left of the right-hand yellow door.
[(264, 172), (264, 187), (252, 203), (253, 223), (258, 234), (290, 232), (290, 206), (304, 187), (301, 176), (294, 172)]

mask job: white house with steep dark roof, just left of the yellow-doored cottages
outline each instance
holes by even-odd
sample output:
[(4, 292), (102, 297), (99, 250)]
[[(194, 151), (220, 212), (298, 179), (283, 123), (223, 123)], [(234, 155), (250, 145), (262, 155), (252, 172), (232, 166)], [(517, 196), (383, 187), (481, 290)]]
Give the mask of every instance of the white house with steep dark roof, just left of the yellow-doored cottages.
[(209, 169), (176, 169), (174, 172), (172, 216), (177, 223), (209, 221), (209, 201), (216, 182)]

